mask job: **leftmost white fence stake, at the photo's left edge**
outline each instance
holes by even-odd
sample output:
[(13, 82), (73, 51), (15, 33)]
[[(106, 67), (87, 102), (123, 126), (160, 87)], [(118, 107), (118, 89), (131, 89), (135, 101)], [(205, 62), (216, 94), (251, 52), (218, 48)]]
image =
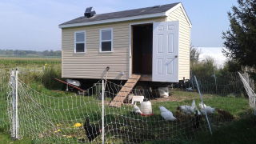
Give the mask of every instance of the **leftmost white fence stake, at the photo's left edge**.
[(12, 137), (15, 138), (15, 91), (14, 91), (14, 69), (11, 70), (10, 73), (11, 78), (11, 89), (12, 89), (12, 97), (13, 97), (13, 129), (12, 129)]

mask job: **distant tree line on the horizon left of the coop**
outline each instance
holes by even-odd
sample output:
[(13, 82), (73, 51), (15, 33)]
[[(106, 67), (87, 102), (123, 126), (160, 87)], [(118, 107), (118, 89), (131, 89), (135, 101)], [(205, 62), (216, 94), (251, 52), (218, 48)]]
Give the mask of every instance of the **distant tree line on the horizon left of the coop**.
[(38, 55), (38, 56), (62, 56), (61, 50), (0, 50), (0, 55)]

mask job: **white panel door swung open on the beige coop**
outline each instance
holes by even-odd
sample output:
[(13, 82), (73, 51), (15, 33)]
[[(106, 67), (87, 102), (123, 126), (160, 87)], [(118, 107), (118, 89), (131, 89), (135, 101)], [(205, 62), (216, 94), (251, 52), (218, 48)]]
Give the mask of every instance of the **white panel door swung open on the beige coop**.
[(178, 82), (179, 22), (154, 22), (152, 81)]

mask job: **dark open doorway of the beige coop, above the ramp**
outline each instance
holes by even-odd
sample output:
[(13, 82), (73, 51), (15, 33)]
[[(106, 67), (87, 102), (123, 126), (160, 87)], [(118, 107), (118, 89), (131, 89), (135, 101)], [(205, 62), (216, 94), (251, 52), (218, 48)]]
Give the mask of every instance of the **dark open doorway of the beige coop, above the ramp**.
[(132, 74), (152, 75), (153, 24), (131, 28)]

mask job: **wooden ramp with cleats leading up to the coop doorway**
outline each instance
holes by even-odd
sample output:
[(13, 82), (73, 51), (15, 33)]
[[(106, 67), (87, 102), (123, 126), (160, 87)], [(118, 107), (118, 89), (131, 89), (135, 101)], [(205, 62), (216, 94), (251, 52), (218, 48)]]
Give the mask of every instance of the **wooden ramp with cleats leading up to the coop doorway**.
[(110, 102), (110, 107), (121, 107), (123, 101), (126, 99), (128, 94), (130, 94), (130, 90), (134, 88), (138, 79), (141, 78), (139, 74), (132, 74), (128, 81), (126, 82), (125, 86), (122, 86), (122, 89), (119, 93), (114, 97), (113, 101)]

